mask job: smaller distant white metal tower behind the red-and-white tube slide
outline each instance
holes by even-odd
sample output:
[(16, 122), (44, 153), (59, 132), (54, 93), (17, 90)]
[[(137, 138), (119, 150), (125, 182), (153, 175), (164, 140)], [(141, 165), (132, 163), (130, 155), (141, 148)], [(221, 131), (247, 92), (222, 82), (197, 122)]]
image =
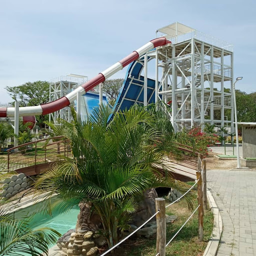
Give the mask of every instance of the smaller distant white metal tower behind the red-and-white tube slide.
[[(49, 102), (63, 97), (86, 81), (87, 76), (77, 74), (68, 74), (66, 76), (51, 79), (49, 88)], [(52, 120), (55, 125), (59, 124), (59, 118), (68, 122), (71, 120), (72, 116), (69, 106), (49, 114), (49, 121)]]

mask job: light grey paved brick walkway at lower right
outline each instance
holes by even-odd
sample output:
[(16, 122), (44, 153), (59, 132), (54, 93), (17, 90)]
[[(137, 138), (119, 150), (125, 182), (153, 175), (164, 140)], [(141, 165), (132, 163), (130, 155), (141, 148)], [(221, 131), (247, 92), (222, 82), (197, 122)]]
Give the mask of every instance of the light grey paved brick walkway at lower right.
[(207, 187), (223, 220), (217, 256), (256, 256), (256, 171), (207, 170)]

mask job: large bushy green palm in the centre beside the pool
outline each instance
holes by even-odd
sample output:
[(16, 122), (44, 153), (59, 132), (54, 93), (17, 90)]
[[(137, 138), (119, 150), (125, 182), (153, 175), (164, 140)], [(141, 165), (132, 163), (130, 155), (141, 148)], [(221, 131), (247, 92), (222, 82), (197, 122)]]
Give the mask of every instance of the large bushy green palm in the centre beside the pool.
[(136, 210), (137, 195), (158, 186), (187, 190), (184, 183), (171, 178), (163, 164), (165, 134), (155, 114), (132, 107), (115, 113), (109, 122), (111, 114), (109, 107), (101, 105), (85, 122), (73, 109), (72, 122), (60, 120), (61, 126), (47, 122), (52, 137), (70, 140), (72, 157), (62, 156), (63, 160), (35, 184), (37, 189), (57, 194), (51, 206), (60, 210), (78, 202), (91, 203), (92, 212), (100, 216), (109, 246), (129, 228), (127, 222)]

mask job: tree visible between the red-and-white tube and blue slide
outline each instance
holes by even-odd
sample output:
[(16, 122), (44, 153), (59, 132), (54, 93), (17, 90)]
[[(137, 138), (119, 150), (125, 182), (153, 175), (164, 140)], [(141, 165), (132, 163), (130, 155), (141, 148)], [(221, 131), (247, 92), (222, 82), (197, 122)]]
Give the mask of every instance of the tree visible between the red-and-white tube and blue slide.
[(111, 105), (114, 105), (115, 100), (120, 92), (123, 79), (108, 79), (103, 82), (103, 92), (106, 94), (107, 99)]

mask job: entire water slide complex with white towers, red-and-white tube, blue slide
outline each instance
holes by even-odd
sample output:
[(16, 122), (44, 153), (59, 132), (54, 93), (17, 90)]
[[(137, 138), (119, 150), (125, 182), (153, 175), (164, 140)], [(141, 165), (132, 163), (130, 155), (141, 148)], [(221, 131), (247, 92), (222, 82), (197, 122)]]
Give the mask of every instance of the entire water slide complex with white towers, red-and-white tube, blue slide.
[[(53, 101), (19, 107), (18, 115), (54, 113), (50, 117), (53, 120), (68, 118), (70, 113), (66, 107), (75, 100), (76, 110), (80, 113), (81, 96), (129, 64), (114, 106), (116, 110), (160, 100), (169, 106), (174, 130), (207, 122), (229, 126), (233, 132), (232, 45), (178, 22), (157, 29), (156, 34), (162, 36), (147, 42), (76, 88), (78, 84), (71, 84), (71, 80), (67, 84), (61, 80), (52, 82), (50, 98)], [(154, 75), (149, 78), (149, 61), (153, 59)], [(98, 97), (102, 102), (101, 89)], [(227, 110), (231, 111), (230, 120), (227, 120)], [(0, 108), (0, 117), (14, 116), (14, 113), (14, 107)]]

